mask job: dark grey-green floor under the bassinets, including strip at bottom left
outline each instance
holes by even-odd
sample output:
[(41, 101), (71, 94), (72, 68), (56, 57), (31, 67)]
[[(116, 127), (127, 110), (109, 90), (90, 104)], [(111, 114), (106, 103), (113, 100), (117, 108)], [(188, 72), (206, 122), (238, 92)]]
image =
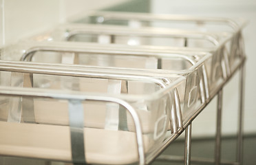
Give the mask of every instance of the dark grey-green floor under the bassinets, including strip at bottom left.
[[(213, 138), (198, 138), (192, 140), (192, 157), (214, 157), (214, 139)], [(222, 154), (224, 160), (235, 160), (236, 141), (235, 137), (222, 137)], [(163, 154), (184, 155), (184, 140), (177, 139)], [(256, 164), (256, 134), (246, 135), (244, 137), (244, 165)], [(63, 165), (60, 162), (45, 162), (39, 159), (25, 159), (16, 157), (0, 157), (1, 165)], [(161, 162), (156, 160), (153, 165), (180, 165), (178, 162)]]

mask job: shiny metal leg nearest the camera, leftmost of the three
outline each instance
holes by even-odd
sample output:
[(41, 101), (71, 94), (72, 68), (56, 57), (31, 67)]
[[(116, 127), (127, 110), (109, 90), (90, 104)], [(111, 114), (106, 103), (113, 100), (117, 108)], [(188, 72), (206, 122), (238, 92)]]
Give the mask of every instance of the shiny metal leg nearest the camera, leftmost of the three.
[(186, 134), (185, 134), (185, 165), (191, 164), (191, 131), (192, 131), (192, 124), (186, 127)]

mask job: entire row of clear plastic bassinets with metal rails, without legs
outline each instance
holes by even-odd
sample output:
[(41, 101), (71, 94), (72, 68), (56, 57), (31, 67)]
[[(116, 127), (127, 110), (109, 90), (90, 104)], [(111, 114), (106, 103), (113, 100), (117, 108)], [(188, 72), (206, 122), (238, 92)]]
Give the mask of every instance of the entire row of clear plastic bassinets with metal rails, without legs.
[(245, 59), (239, 19), (94, 12), (72, 22), (2, 47), (0, 155), (145, 164)]

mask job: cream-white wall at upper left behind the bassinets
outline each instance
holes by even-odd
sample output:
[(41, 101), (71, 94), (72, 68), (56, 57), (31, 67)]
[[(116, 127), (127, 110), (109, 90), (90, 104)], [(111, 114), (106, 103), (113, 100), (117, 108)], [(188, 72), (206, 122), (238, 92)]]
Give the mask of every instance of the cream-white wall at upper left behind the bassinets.
[(79, 12), (127, 0), (0, 0), (0, 45), (52, 27)]

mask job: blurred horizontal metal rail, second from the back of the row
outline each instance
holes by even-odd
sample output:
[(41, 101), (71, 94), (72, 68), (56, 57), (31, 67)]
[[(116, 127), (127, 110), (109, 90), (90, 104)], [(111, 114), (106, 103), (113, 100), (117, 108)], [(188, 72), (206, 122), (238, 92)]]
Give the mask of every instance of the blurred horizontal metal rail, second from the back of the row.
[[(228, 39), (227, 33), (197, 32), (189, 30), (170, 30), (167, 28), (127, 28), (117, 25), (92, 25), (92, 24), (63, 24), (56, 31), (63, 31), (63, 40), (70, 41), (78, 34), (103, 34), (111, 36), (111, 43), (115, 42), (115, 36), (146, 36), (146, 37), (173, 37), (182, 39), (204, 39), (213, 45), (220, 44), (219, 38), (224, 36)], [(54, 32), (54, 31), (53, 31)], [(187, 41), (186, 39), (186, 41)], [(55, 41), (55, 39), (52, 39)], [(224, 42), (225, 39), (222, 39)]]

